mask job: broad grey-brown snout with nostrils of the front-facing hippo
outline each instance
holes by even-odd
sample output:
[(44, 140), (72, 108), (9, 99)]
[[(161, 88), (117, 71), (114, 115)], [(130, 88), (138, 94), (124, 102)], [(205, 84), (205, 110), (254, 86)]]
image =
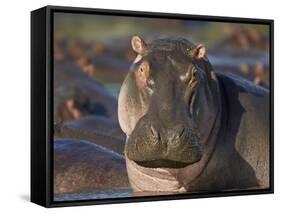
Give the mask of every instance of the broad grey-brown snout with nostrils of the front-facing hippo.
[(201, 159), (202, 146), (184, 123), (165, 127), (143, 119), (127, 139), (125, 154), (145, 167), (182, 168)]

